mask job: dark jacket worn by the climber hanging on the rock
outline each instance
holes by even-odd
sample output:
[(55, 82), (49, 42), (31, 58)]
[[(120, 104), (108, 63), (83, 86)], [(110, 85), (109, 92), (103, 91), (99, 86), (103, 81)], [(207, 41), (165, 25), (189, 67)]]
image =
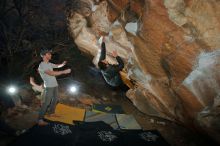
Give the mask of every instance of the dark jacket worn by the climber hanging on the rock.
[[(105, 47), (105, 43), (102, 42), (101, 45), (101, 55), (99, 58), (99, 67), (100, 67), (100, 63), (102, 60), (105, 60), (106, 58), (106, 47)], [(123, 84), (121, 76), (120, 76), (120, 71), (124, 68), (124, 63), (123, 60), (121, 59), (121, 57), (117, 56), (116, 60), (118, 62), (118, 64), (116, 65), (112, 65), (109, 64), (108, 66), (106, 66), (106, 68), (101, 69), (101, 73), (105, 79), (105, 81), (112, 87), (118, 87), (120, 85)]]

